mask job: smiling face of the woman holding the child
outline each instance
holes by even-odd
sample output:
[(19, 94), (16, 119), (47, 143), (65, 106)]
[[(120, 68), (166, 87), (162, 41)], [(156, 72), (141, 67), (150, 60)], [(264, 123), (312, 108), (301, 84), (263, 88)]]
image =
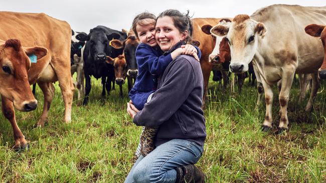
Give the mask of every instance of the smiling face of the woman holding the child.
[(184, 40), (188, 36), (187, 32), (182, 33), (179, 31), (170, 16), (159, 17), (156, 21), (155, 29), (155, 39), (163, 51), (170, 50), (179, 41)]

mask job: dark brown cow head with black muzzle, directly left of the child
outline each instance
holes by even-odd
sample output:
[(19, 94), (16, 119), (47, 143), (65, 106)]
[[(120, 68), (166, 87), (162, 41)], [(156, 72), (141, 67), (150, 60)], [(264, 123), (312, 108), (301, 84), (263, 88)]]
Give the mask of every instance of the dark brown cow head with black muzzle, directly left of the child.
[(111, 40), (110, 44), (114, 48), (122, 48), (127, 63), (127, 75), (136, 78), (138, 75), (138, 66), (136, 62), (136, 48), (139, 44), (135, 35), (128, 35), (128, 37), (121, 41), (117, 39)]

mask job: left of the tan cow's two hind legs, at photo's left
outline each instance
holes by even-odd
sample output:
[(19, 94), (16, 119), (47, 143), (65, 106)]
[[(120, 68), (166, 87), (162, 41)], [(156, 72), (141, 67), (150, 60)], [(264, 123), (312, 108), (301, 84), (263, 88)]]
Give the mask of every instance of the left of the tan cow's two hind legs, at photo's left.
[(43, 91), (44, 105), (43, 105), (43, 112), (41, 114), (41, 117), (34, 126), (44, 127), (45, 123), (48, 122), (48, 111), (50, 109), (51, 102), (54, 96), (55, 87), (52, 84), (52, 82), (38, 82), (38, 84)]

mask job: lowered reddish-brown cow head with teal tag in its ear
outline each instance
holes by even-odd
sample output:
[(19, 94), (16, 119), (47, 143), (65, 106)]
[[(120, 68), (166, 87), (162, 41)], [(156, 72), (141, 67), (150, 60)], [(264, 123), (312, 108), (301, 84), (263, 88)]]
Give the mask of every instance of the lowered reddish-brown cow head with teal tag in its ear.
[(24, 48), (17, 39), (0, 40), (0, 93), (13, 101), (18, 110), (31, 111), (37, 107), (28, 80), (31, 67), (28, 55), (40, 59), (47, 52), (46, 48), (39, 46)]

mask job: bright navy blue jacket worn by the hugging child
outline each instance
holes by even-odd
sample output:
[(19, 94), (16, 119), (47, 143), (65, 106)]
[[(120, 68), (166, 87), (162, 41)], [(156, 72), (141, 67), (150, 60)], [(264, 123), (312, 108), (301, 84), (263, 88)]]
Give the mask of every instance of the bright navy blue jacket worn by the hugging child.
[[(200, 49), (197, 46), (195, 47), (200, 57)], [(171, 63), (172, 57), (171, 52), (162, 55), (162, 51), (158, 46), (151, 47), (148, 44), (140, 43), (136, 49), (136, 61), (138, 75), (129, 92), (129, 97), (136, 108), (142, 109), (148, 96), (156, 89), (157, 76), (165, 71)]]

